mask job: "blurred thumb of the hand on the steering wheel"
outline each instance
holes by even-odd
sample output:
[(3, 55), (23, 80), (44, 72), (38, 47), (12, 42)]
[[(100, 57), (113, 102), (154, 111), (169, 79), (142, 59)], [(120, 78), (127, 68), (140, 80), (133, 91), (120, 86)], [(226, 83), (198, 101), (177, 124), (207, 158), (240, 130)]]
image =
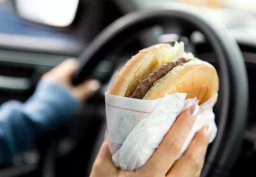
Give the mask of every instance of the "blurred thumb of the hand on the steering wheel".
[(79, 100), (86, 100), (92, 96), (100, 88), (100, 82), (98, 80), (87, 80), (82, 84), (74, 87), (75, 97)]

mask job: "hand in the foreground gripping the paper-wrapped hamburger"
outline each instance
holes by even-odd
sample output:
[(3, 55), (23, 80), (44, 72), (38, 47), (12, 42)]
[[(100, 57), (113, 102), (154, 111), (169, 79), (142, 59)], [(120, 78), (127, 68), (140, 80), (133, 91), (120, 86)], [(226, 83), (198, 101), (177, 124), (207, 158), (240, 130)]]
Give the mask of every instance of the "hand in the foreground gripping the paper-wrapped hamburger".
[(135, 176), (200, 176), (209, 142), (207, 127), (199, 131), (184, 156), (175, 161), (190, 132), (195, 118), (188, 108), (178, 116), (170, 131), (163, 138), (150, 160), (135, 171), (122, 171), (112, 163), (109, 140), (106, 138), (96, 158), (91, 177), (135, 177)]

